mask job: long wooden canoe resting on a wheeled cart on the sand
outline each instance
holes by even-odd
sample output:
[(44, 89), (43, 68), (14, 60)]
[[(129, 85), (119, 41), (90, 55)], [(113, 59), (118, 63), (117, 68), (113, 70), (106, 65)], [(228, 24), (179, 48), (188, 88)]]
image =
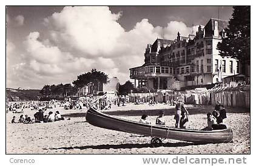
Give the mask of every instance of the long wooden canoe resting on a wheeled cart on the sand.
[(201, 143), (227, 143), (231, 142), (233, 139), (233, 131), (231, 128), (204, 131), (173, 128), (165, 125), (142, 124), (140, 122), (106, 115), (96, 111), (94, 108), (90, 108), (87, 111), (86, 121), (96, 127), (123, 131), (126, 133), (141, 134), (144, 136), (152, 136), (153, 138), (176, 139)]

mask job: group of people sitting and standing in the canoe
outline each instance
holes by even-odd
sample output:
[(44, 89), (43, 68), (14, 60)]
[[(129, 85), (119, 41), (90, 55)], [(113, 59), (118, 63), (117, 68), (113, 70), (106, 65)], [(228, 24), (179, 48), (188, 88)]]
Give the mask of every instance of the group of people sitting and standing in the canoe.
[[(166, 120), (164, 119), (164, 111), (161, 110), (159, 112), (159, 116), (156, 119), (156, 125), (166, 125)], [(184, 106), (184, 102), (182, 99), (177, 99), (177, 103), (175, 105), (175, 128), (186, 128), (184, 124), (189, 121), (189, 111), (187, 111)], [(207, 127), (202, 130), (220, 130), (227, 128), (226, 125), (223, 124), (223, 119), (226, 119), (226, 110), (220, 102), (217, 102), (215, 109), (212, 113), (207, 113)], [(144, 124), (151, 124), (151, 122), (147, 121), (147, 115), (142, 115), (140, 121)]]

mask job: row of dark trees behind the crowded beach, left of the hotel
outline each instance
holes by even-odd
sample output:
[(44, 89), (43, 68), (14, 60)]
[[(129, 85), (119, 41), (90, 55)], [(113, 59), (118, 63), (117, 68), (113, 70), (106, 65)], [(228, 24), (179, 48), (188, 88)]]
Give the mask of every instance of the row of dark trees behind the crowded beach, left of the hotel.
[(103, 84), (109, 83), (109, 76), (93, 68), (77, 77), (72, 84), (44, 85), (40, 93), (45, 97), (65, 97), (75, 95), (78, 88), (88, 86), (91, 93), (96, 93)]

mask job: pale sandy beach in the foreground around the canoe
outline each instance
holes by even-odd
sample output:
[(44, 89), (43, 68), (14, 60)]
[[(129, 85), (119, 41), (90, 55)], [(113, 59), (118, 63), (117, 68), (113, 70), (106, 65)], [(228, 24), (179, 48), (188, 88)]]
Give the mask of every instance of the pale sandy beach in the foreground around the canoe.
[[(212, 112), (212, 105), (187, 105), (189, 128), (204, 128), (207, 125), (206, 113)], [(86, 109), (58, 110), (64, 121), (41, 124), (12, 124), (12, 117), (18, 121), (20, 113), (6, 114), (6, 153), (7, 154), (249, 154), (250, 153), (250, 110), (226, 108), (225, 124), (232, 127), (234, 138), (228, 144), (200, 144), (166, 139), (163, 147), (150, 147), (150, 137), (123, 133), (94, 127), (86, 122)], [(144, 113), (152, 123), (159, 110), (165, 111), (167, 124), (175, 125), (174, 106), (157, 104), (113, 106), (104, 113), (124, 119), (139, 121)], [(33, 117), (36, 111), (24, 109), (23, 115)], [(67, 120), (70, 118), (70, 120)]]

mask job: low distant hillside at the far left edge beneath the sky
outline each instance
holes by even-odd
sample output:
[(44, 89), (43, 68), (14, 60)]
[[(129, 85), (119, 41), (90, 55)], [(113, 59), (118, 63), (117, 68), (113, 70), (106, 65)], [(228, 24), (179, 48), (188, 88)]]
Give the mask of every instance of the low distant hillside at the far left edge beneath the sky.
[(32, 101), (38, 100), (40, 90), (22, 90), (6, 88), (6, 101)]

